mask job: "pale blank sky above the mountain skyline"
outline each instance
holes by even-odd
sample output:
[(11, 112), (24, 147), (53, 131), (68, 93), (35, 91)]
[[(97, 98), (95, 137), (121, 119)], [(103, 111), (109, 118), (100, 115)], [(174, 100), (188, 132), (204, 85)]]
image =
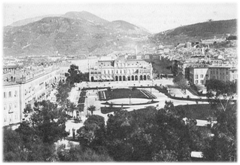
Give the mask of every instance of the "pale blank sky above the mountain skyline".
[(88, 11), (158, 33), (183, 25), (239, 18), (238, 1), (9, 1), (1, 3), (1, 26), (43, 15)]

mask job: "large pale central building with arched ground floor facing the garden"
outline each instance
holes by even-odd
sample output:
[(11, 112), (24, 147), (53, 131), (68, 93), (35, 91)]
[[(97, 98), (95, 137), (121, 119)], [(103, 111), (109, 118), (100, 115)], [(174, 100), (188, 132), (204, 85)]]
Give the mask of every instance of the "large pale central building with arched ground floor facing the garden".
[(90, 81), (140, 81), (152, 79), (152, 64), (141, 59), (99, 60), (89, 68)]

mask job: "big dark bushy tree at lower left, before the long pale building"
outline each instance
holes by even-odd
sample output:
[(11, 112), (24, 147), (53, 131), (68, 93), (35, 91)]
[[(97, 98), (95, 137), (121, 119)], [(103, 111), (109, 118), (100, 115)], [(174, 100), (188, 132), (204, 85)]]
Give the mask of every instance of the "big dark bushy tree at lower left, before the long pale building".
[[(6, 162), (51, 163), (55, 161), (54, 142), (68, 135), (65, 131), (66, 114), (50, 101), (37, 102), (32, 111), (30, 121), (22, 122), (16, 131), (12, 132), (15, 136), (15, 139), (12, 139), (17, 143), (10, 140), (11, 134), (7, 132), (7, 138), (4, 139), (8, 142), (4, 147)], [(8, 147), (11, 143), (16, 147)]]

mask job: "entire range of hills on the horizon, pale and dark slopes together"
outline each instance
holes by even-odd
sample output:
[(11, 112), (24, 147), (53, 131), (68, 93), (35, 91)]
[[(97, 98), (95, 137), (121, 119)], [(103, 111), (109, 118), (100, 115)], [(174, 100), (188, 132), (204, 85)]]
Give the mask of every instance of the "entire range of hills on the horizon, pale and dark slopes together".
[(237, 19), (181, 26), (152, 35), (123, 20), (107, 21), (86, 11), (29, 18), (2, 27), (2, 55), (102, 55), (134, 52), (136, 46), (175, 45), (238, 35)]

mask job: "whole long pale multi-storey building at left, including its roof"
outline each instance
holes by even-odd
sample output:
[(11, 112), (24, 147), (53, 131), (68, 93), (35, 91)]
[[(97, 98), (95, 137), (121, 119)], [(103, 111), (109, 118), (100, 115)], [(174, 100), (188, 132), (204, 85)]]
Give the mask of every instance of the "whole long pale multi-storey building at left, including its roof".
[(1, 127), (20, 123), (24, 108), (47, 99), (65, 70), (59, 66), (25, 68), (2, 75)]

